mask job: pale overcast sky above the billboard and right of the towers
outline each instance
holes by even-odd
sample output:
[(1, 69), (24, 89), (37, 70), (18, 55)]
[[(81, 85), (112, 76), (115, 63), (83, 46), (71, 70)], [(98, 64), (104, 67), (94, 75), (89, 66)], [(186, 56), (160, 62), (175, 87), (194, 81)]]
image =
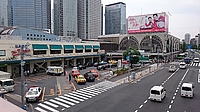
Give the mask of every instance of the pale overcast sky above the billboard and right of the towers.
[(200, 0), (102, 0), (104, 6), (116, 2), (126, 4), (126, 17), (166, 12), (169, 32), (178, 38), (200, 33)]

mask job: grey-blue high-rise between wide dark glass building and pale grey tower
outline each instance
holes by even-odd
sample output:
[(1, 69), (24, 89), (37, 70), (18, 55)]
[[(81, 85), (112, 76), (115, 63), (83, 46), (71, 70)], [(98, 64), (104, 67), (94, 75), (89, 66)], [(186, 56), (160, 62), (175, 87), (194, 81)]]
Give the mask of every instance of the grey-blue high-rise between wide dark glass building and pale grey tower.
[(54, 34), (77, 37), (77, 0), (54, 0)]

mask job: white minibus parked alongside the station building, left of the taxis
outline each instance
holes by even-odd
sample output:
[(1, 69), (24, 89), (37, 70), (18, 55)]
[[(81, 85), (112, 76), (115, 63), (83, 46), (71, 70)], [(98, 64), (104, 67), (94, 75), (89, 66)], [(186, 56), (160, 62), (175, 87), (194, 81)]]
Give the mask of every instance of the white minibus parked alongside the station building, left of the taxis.
[(63, 74), (63, 67), (48, 66), (46, 73), (48, 75), (61, 75), (61, 74)]

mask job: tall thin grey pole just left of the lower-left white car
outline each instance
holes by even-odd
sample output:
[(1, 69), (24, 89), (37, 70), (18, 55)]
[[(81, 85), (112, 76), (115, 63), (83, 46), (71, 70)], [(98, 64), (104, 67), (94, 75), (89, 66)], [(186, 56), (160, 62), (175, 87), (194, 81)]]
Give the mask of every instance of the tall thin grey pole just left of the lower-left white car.
[(24, 52), (23, 46), (20, 47), (20, 57), (21, 57), (21, 101), (22, 101), (22, 108), (24, 109)]

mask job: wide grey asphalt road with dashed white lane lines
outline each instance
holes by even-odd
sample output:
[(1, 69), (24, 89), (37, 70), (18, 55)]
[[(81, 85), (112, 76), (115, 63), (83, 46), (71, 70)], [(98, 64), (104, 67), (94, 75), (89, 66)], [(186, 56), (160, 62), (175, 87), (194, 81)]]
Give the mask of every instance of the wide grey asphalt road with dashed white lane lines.
[[(195, 57), (199, 57), (195, 54)], [(82, 104), (72, 106), (73, 112), (200, 112), (200, 84), (198, 83), (200, 63), (191, 63), (186, 69), (168, 72), (169, 64), (137, 83), (125, 84), (94, 97)], [(194, 83), (194, 98), (180, 96), (183, 82)], [(150, 101), (149, 90), (154, 85), (162, 85), (167, 97), (162, 103)]]

